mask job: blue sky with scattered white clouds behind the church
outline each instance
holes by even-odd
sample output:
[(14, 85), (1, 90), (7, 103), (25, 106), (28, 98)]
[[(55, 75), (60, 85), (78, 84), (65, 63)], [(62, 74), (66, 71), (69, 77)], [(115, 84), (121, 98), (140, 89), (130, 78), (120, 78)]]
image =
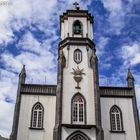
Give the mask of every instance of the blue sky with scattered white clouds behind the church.
[[(6, 4), (2, 2), (6, 1)], [(59, 16), (75, 0), (0, 0), (0, 134), (11, 132), (18, 74), (27, 83), (56, 84)], [(77, 0), (94, 15), (100, 85), (126, 86), (135, 77), (140, 110), (140, 1)], [(46, 79), (46, 80), (45, 80)]]

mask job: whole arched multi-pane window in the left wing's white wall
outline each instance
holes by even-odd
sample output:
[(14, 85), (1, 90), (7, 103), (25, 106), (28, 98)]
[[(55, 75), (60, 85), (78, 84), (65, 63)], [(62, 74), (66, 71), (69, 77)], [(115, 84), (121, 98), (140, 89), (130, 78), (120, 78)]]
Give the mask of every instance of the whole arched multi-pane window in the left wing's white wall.
[(31, 128), (43, 128), (43, 115), (43, 106), (38, 102), (32, 108)]

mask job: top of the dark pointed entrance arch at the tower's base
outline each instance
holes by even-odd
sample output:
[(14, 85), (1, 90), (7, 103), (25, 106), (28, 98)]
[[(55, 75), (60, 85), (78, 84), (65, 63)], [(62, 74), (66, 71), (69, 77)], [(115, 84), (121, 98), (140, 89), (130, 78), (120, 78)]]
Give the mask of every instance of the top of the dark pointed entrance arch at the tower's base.
[(90, 140), (90, 138), (81, 131), (72, 133), (66, 140)]

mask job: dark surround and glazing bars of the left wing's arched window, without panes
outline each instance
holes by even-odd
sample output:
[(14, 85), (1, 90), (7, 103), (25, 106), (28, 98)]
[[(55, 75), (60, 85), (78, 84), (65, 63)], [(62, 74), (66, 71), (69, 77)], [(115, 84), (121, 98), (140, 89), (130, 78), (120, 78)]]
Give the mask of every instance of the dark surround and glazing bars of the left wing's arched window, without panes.
[[(37, 122), (36, 122), (36, 127), (33, 126), (33, 123), (34, 123), (34, 112), (35, 112), (35, 107), (37, 105), (40, 105), (41, 106), (41, 111), (37, 111)], [(41, 112), (41, 126), (38, 127), (38, 122), (39, 122), (39, 112)], [(37, 129), (37, 130), (42, 130), (43, 129), (43, 121), (44, 121), (44, 107), (43, 105), (40, 103), (40, 102), (37, 102), (33, 105), (32, 107), (32, 111), (31, 111), (31, 122), (30, 122), (30, 129)]]

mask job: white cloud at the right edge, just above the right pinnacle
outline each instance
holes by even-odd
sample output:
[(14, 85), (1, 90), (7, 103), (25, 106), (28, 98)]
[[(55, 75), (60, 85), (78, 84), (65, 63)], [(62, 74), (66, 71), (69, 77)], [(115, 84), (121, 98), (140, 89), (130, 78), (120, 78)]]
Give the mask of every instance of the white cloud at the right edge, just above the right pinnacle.
[(121, 57), (125, 66), (134, 66), (140, 63), (140, 42), (122, 46)]

